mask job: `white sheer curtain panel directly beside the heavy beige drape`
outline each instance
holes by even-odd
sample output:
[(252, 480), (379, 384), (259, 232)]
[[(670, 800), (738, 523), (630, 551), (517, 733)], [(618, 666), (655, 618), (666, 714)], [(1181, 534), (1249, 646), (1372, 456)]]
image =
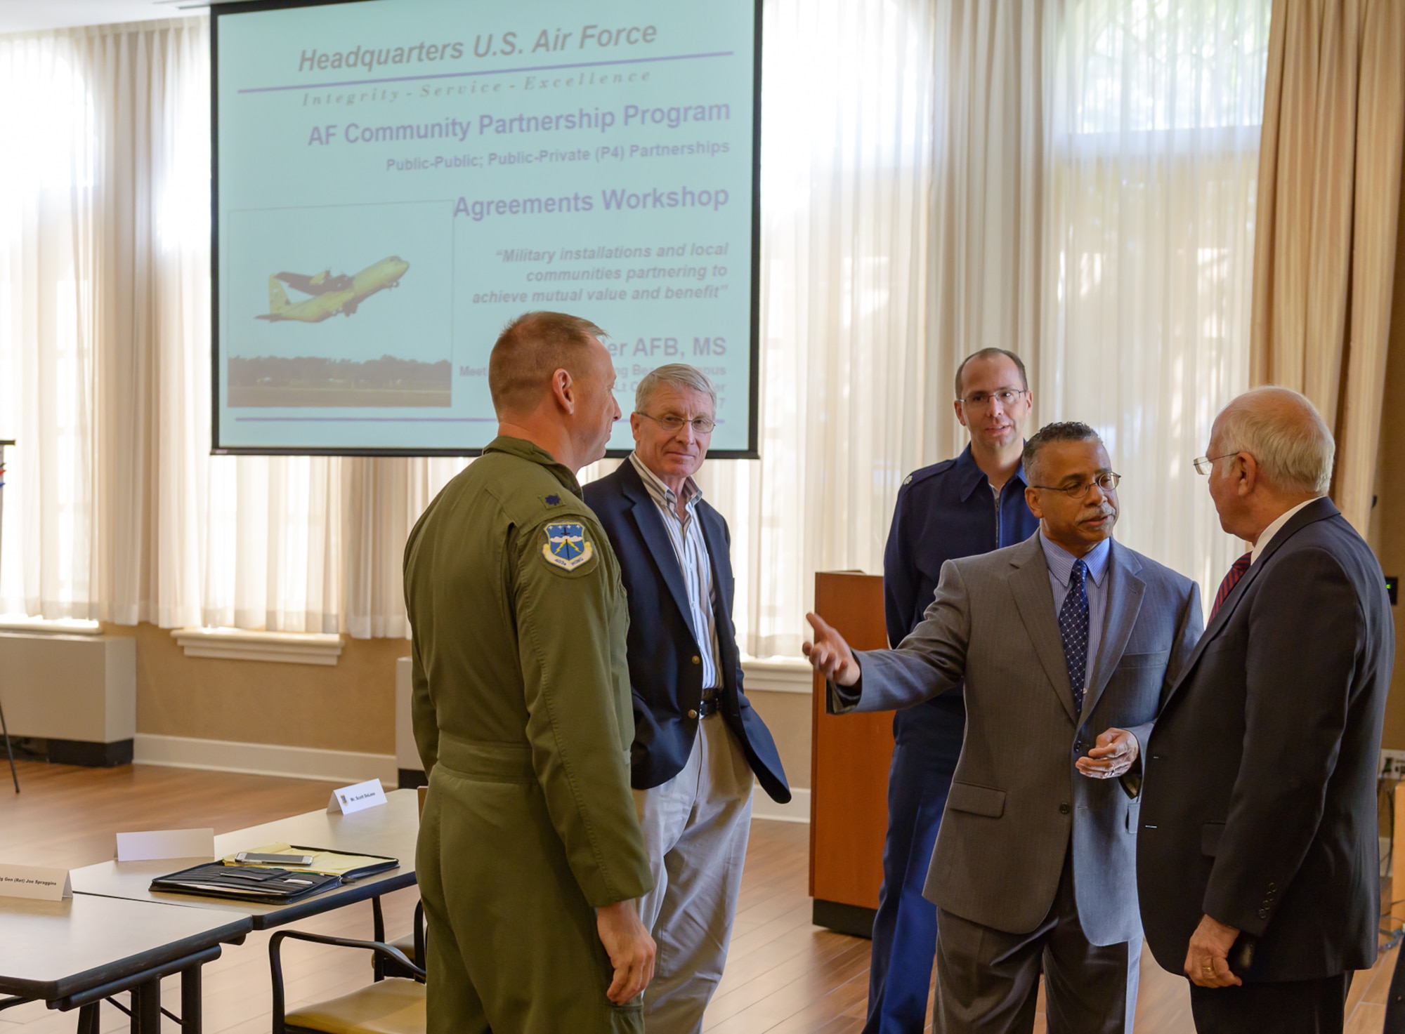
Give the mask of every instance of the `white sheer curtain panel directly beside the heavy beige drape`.
[(1078, 0), (1052, 27), (1047, 419), (1093, 424), (1118, 539), (1211, 594), (1242, 552), (1191, 458), (1248, 386), (1270, 0)]

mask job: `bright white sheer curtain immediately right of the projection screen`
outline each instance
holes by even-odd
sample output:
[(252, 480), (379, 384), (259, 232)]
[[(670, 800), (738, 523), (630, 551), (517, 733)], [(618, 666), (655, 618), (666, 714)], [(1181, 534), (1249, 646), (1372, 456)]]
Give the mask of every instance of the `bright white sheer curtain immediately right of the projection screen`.
[(881, 555), (902, 471), (930, 455), (933, 15), (766, 4), (762, 459), (701, 479), (731, 523), (735, 620), (760, 656), (799, 652), (813, 572)]

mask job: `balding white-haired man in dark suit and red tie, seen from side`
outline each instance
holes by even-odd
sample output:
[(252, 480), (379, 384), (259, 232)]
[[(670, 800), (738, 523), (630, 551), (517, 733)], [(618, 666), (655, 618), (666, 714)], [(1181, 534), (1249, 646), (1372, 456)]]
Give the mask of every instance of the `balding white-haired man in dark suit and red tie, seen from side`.
[(1253, 548), (1156, 719), (1137, 864), (1146, 940), (1203, 1033), (1340, 1031), (1375, 961), (1394, 632), (1375, 556), (1324, 495), (1333, 451), (1311, 402), (1259, 388), (1196, 461)]

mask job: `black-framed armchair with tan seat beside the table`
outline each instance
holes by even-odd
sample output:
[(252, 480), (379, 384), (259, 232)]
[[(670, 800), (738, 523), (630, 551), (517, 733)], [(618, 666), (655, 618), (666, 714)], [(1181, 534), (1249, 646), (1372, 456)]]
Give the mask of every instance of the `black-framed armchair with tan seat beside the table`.
[[(329, 1002), (284, 1012), (282, 960), (287, 938), (362, 948), (413, 975), (386, 976)], [(273, 1034), (424, 1034), (424, 971), (403, 953), (381, 941), (327, 937), (302, 930), (280, 930), (268, 938), (268, 968), (273, 974)]]

